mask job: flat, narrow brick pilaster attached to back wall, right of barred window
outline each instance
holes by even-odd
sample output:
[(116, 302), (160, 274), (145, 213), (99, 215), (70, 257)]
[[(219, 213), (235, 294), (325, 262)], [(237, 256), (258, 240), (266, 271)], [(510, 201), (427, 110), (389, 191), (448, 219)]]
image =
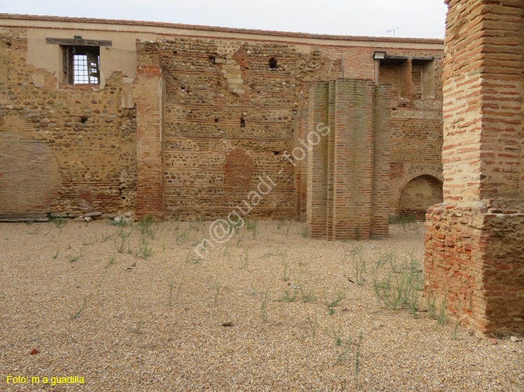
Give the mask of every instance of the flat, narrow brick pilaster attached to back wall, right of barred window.
[(157, 45), (137, 42), (138, 69), (133, 86), (136, 103), (136, 216), (163, 217), (162, 122), (163, 77)]

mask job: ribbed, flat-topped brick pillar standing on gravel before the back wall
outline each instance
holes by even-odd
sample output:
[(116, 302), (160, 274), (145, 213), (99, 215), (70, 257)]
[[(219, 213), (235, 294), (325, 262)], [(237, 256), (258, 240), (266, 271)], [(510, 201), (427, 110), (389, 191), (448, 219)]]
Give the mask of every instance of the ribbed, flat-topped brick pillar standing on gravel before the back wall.
[(319, 135), (307, 158), (310, 236), (387, 236), (390, 89), (370, 80), (319, 82), (310, 89), (309, 114), (310, 135)]

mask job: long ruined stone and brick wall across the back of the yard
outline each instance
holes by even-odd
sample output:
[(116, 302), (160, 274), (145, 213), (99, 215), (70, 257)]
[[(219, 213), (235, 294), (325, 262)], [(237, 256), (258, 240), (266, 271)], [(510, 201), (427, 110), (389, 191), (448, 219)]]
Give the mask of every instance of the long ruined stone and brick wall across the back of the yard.
[[(33, 17), (27, 18), (30, 24)], [(45, 38), (68, 38), (69, 32), (72, 37), (80, 22), (52, 17), (39, 22), (52, 27), (54, 19), (59, 19), (59, 32), (29, 29), (31, 50), (27, 43), (13, 43), (0, 61), (5, 75), (0, 104), (7, 108), (0, 114), (0, 131), (10, 135), (13, 129), (34, 128), (35, 133), (29, 137), (27, 131), (14, 148), (13, 137), (2, 138), (1, 151), (8, 151), (2, 152), (2, 159), (9, 163), (3, 165), (0, 177), (5, 185), (4, 216), (13, 216), (13, 211), (37, 216), (100, 211), (113, 216), (136, 209), (139, 216), (216, 218), (242, 205), (265, 174), (277, 185), (251, 215), (305, 220), (307, 159), (293, 165), (284, 151), (290, 153), (307, 137), (310, 86), (318, 81), (377, 77), (372, 59), (377, 43), (372, 38), (358, 38), (348, 45), (340, 37), (239, 34), (214, 28), (195, 28), (191, 33), (167, 25), (126, 22), (127, 27), (115, 27), (120, 22), (101, 21), (91, 31), (85, 24), (89, 21), (82, 20), (84, 38), (105, 39), (99, 29), (103, 24), (117, 43), (101, 50), (101, 70), (112, 74), (101, 75), (102, 88), (58, 84), (61, 59), (48, 59), (54, 50), (45, 45)], [(3, 23), (9, 22), (9, 17), (3, 18)], [(15, 22), (22, 24), (20, 18)], [(14, 27), (1, 32), (6, 43), (12, 41), (12, 33), (26, 34)], [(421, 169), (439, 171), (439, 165), (433, 165), (439, 141), (430, 140), (426, 128), (439, 129), (442, 52), (435, 49), (438, 43), (423, 40), (392, 40), (384, 45), (388, 54), (437, 57), (433, 98), (423, 96), (421, 66), (411, 66), (411, 71), (405, 66), (396, 79), (388, 77), (387, 67), (380, 67), (384, 68), (381, 83), (392, 84), (391, 107), (397, 119), (391, 132), (400, 140), (393, 140), (393, 182), (388, 186), (389, 209), (395, 211), (408, 177)], [(118, 63), (119, 53), (125, 64)], [(45, 60), (40, 61), (45, 70), (31, 65), (38, 59)], [(136, 72), (131, 75), (129, 64), (135, 62)], [(407, 102), (401, 93), (395, 94), (407, 91), (409, 84), (412, 91), (421, 91), (421, 98), (416, 92)], [(22, 116), (15, 119), (14, 114)], [(330, 126), (334, 121), (331, 113)], [(416, 153), (413, 142), (418, 143)], [(27, 153), (35, 157), (34, 165), (24, 166), (20, 160)], [(332, 174), (334, 169), (328, 167)], [(32, 176), (35, 170), (45, 176)], [(14, 181), (17, 175), (24, 181)], [(333, 216), (328, 219), (332, 222)]]

